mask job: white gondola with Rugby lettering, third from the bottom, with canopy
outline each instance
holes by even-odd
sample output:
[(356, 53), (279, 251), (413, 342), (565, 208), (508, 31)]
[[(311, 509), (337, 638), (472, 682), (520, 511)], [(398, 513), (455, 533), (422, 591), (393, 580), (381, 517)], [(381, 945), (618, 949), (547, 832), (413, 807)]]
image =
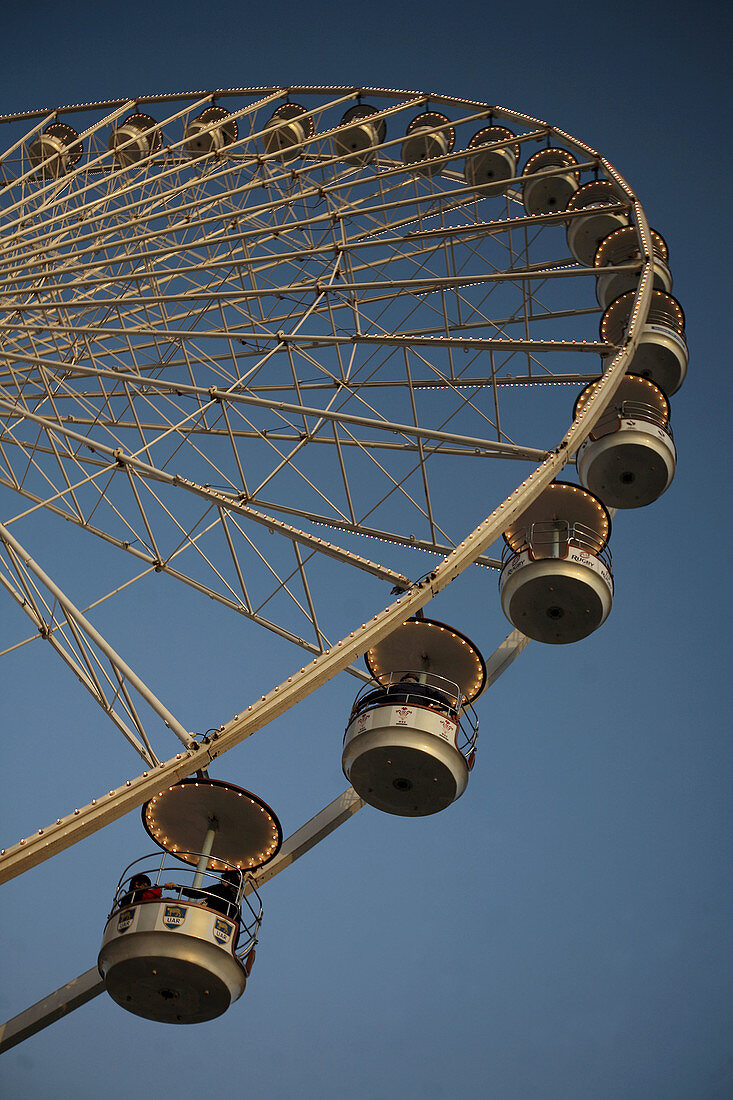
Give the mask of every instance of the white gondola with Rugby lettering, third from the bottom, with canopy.
[(611, 519), (587, 490), (554, 482), (504, 531), (502, 609), (535, 641), (566, 645), (605, 622), (613, 601)]

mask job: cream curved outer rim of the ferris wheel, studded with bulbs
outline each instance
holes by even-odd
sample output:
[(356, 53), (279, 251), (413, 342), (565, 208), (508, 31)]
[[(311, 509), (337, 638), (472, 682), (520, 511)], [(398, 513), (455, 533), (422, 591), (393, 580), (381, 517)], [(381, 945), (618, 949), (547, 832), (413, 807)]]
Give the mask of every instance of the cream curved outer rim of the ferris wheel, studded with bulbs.
[[(281, 89), (261, 87), (231, 89), (228, 92), (220, 91), (219, 95), (230, 95), (232, 97), (260, 98), (263, 94), (277, 94)], [(318, 96), (353, 96), (353, 86), (314, 86), (294, 87), (293, 92), (302, 95)], [(394, 91), (378, 87), (363, 87), (363, 95), (378, 99), (394, 99)], [(401, 92), (401, 95), (405, 95)], [(425, 98), (423, 92), (408, 94), (414, 100)], [(192, 96), (192, 99), (194, 96)], [(537, 131), (541, 128), (548, 133), (556, 133), (556, 130), (548, 123), (536, 118), (518, 112), (505, 111), (501, 108), (490, 107), (485, 102), (477, 100), (466, 100), (455, 96), (430, 96), (433, 102), (445, 105), (451, 110), (469, 109), (473, 112), (491, 111), (495, 119), (506, 120), (513, 124)], [(129, 101), (117, 100), (111, 102), (105, 100), (86, 105), (85, 110), (105, 109), (110, 107), (124, 107)], [(146, 102), (160, 103), (165, 101), (165, 97), (145, 99), (135, 97), (135, 101), (145, 105)], [(178, 108), (176, 107), (176, 110)], [(39, 110), (26, 112), (22, 116), (25, 119), (43, 119), (47, 111)], [(14, 121), (17, 116), (6, 117), (7, 121)], [(652, 240), (648, 222), (644, 208), (638, 199), (631, 191), (623, 176), (617, 169), (600, 153), (579, 139), (562, 134), (562, 140), (573, 148), (583, 161), (597, 161), (620, 188), (621, 194), (628, 199), (634, 209), (634, 221), (638, 226), (639, 235), (645, 251), (650, 253)], [(645, 322), (652, 301), (652, 271), (650, 265), (642, 273), (637, 292), (637, 301), (632, 308), (627, 340), (608, 356), (606, 367), (601, 380), (601, 385), (597, 393), (590, 398), (589, 406), (582, 418), (568, 425), (567, 430), (558, 440), (547, 458), (532, 470), (524, 477), (510, 495), (500, 502), (492, 512), (488, 512), (485, 518), (451, 550), (446, 558), (440, 561), (433, 572), (425, 580), (414, 584), (407, 592), (397, 596), (392, 603), (379, 610), (368, 622), (344, 636), (330, 649), (320, 653), (310, 664), (299, 672), (294, 671), (293, 675), (283, 681), (272, 691), (262, 696), (261, 700), (252, 704), (244, 714), (236, 715), (219, 734), (217, 741), (217, 752), (220, 756), (234, 746), (241, 744), (252, 734), (272, 722), (273, 718), (285, 713), (288, 707), (306, 698), (317, 691), (326, 681), (330, 680), (339, 672), (348, 668), (355, 657), (364, 653), (370, 647), (376, 645), (381, 639), (387, 637), (397, 628), (405, 618), (414, 615), (424, 607), (434, 596), (451, 584), (460, 574), (468, 569), (488, 548), (501, 537), (502, 532), (516, 522), (517, 518), (527, 507), (540, 495), (540, 493), (551, 484), (566, 465), (568, 460), (578, 451), (586, 438), (592, 431), (594, 424), (603, 415), (606, 405), (611, 402), (613, 394), (624, 376), (627, 365), (631, 363), (635, 352), (639, 348), (644, 338)], [(89, 833), (105, 827), (112, 821), (117, 821), (135, 806), (142, 805), (146, 800), (154, 796), (162, 784), (174, 783), (177, 780), (190, 776), (197, 768), (200, 768), (200, 751), (198, 746), (193, 745), (183, 752), (172, 755), (166, 761), (162, 761), (154, 771), (143, 771), (136, 778), (128, 781), (127, 784), (109, 792), (109, 799), (105, 799), (103, 805), (97, 799), (80, 807), (78, 813), (68, 814), (59, 818), (59, 829), (63, 828), (63, 836), (52, 837), (50, 843), (48, 832), (41, 829), (31, 836), (18, 842), (8, 849), (0, 853), (0, 881), (7, 881), (18, 875), (23, 873), (30, 867), (36, 866), (44, 859), (50, 858), (58, 851), (65, 850), (77, 840)]]

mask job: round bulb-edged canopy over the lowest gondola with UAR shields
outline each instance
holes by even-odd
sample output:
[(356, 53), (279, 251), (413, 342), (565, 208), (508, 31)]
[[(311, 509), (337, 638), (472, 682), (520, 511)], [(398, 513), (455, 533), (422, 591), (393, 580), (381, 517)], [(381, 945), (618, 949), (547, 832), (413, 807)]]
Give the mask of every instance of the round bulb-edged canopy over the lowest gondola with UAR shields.
[(219, 779), (184, 779), (166, 787), (143, 805), (141, 816), (158, 848), (193, 866), (215, 817), (218, 828), (207, 865), (214, 871), (230, 864), (242, 870), (264, 867), (283, 843), (274, 810), (251, 791)]

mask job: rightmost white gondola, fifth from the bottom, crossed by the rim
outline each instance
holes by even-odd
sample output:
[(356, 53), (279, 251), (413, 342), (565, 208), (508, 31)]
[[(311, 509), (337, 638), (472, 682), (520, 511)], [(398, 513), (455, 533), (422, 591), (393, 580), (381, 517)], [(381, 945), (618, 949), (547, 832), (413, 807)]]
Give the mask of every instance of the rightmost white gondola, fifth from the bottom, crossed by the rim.
[[(616, 346), (623, 343), (635, 297), (635, 290), (628, 290), (611, 302), (601, 318), (601, 340)], [(670, 396), (682, 385), (688, 361), (682, 307), (670, 294), (653, 290), (649, 312), (628, 371), (650, 378)]]

